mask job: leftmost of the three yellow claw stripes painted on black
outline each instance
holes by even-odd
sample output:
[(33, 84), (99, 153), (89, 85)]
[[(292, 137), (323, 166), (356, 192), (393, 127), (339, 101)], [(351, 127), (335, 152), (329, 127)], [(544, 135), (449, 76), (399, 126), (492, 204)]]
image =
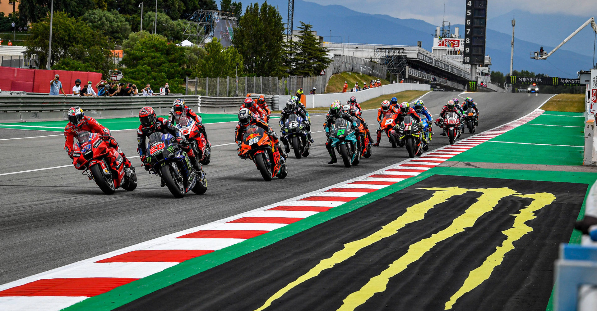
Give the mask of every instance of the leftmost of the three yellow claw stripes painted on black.
[(465, 192), (469, 191), (468, 189), (458, 187), (424, 189), (435, 191), (433, 192), (433, 195), (429, 198), (429, 200), (408, 207), (404, 214), (399, 216), (396, 220), (393, 220), (387, 225), (381, 227), (381, 229), (376, 231), (374, 234), (362, 238), (361, 240), (344, 244), (343, 249), (337, 251), (329, 258), (321, 260), (321, 262), (319, 262), (315, 267), (310, 269), (307, 273), (299, 276), (295, 281), (291, 282), (281, 290), (277, 291), (275, 294), (272, 295), (272, 297), (266, 300), (263, 306), (256, 309), (256, 311), (266, 309), (272, 304), (273, 301), (284, 296), (284, 294), (288, 293), (288, 291), (290, 291), (297, 285), (307, 281), (308, 279), (315, 278), (315, 276), (318, 276), (319, 273), (321, 273), (323, 270), (333, 268), (338, 263), (344, 262), (344, 260), (347, 260), (350, 257), (355, 256), (356, 252), (358, 252), (362, 248), (374, 244), (375, 242), (378, 242), (383, 238), (395, 235), (399, 229), (404, 228), (404, 226), (406, 226), (408, 223), (413, 223), (417, 220), (423, 219), (425, 214), (436, 205), (444, 203), (451, 197), (454, 197), (456, 195), (462, 195)]

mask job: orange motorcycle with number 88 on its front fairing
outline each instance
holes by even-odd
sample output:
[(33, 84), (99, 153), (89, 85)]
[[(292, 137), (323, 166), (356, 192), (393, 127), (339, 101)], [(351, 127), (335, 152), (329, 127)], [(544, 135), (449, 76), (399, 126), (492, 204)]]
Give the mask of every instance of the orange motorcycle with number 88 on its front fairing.
[(288, 175), (286, 161), (266, 131), (259, 126), (247, 127), (238, 155), (251, 159), (264, 181), (272, 181), (274, 177), (285, 178)]

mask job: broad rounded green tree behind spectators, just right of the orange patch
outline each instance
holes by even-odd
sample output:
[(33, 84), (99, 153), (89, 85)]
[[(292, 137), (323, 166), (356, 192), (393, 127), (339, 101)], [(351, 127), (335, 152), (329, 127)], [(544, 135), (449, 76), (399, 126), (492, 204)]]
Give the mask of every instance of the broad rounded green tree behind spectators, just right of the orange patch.
[(124, 49), (121, 65), (126, 67), (125, 81), (137, 86), (145, 83), (162, 86), (168, 82), (174, 93), (184, 91), (184, 77), (190, 76), (193, 66), (187, 58), (187, 48), (169, 44), (157, 35), (147, 35), (132, 48)]

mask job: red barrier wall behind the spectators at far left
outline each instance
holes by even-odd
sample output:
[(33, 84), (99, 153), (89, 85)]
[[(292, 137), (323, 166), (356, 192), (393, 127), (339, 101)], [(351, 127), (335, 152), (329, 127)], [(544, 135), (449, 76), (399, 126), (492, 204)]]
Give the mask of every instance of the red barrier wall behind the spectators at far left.
[(76, 79), (81, 79), (82, 85), (91, 81), (94, 89), (96, 83), (101, 80), (101, 73), (97, 72), (0, 67), (0, 89), (2, 91), (50, 93), (50, 81), (54, 79), (55, 74), (60, 75), (60, 82), (62, 82), (62, 88), (66, 94), (72, 94)]

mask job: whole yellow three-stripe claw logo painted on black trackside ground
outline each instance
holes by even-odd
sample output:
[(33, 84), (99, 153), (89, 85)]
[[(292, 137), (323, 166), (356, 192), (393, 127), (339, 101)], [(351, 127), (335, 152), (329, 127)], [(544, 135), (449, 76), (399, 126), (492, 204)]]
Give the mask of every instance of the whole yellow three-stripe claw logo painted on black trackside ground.
[[(457, 186), (447, 188), (421, 188), (429, 191), (433, 191), (432, 196), (421, 203), (414, 204), (406, 209), (406, 212), (382, 226), (381, 229), (369, 235), (368, 237), (361, 238), (360, 240), (352, 241), (344, 244), (341, 250), (336, 251), (330, 257), (321, 260), (315, 267), (310, 269), (307, 273), (298, 276), (296, 280), (290, 282), (281, 290), (278, 290), (271, 297), (269, 297), (262, 306), (256, 309), (261, 311), (269, 308), (273, 301), (282, 298), (290, 290), (297, 287), (298, 285), (308, 281), (309, 279), (315, 278), (321, 275), (324, 270), (334, 269), (336, 265), (349, 260), (358, 253), (358, 251), (369, 247), (376, 242), (381, 241), (384, 238), (392, 237), (398, 234), (399, 230), (404, 228), (410, 223), (423, 220), (429, 210), (434, 207), (445, 203), (452, 197), (458, 197), (466, 194), (466, 192), (479, 192), (481, 196), (478, 200), (471, 204), (464, 213), (452, 220), (450, 226), (442, 229), (439, 232), (431, 235), (430, 237), (421, 238), (421, 240), (413, 241), (408, 247), (407, 253), (395, 259), (385, 270), (373, 276), (367, 284), (363, 285), (358, 291), (355, 291), (343, 300), (343, 304), (337, 309), (339, 310), (355, 310), (376, 293), (383, 293), (387, 289), (387, 284), (393, 276), (398, 275), (405, 270), (408, 265), (419, 260), (427, 252), (432, 250), (438, 243), (448, 240), (466, 230), (475, 226), (475, 222), (487, 213), (493, 212), (500, 200), (506, 197), (519, 197), (530, 199), (527, 206), (522, 207), (516, 214), (512, 214), (513, 223), (512, 226), (502, 231), (501, 233), (506, 235), (506, 240), (502, 241), (500, 245), (495, 248), (494, 253), (490, 254), (478, 268), (473, 269), (467, 274), (467, 278), (460, 285), (458, 290), (454, 291), (448, 301), (445, 303), (445, 310), (450, 310), (454, 306), (454, 303), (462, 297), (464, 294), (469, 293), (484, 281), (490, 278), (491, 273), (497, 266), (501, 265), (504, 257), (509, 251), (515, 248), (514, 243), (520, 240), (524, 235), (533, 231), (531, 226), (527, 225), (527, 222), (536, 218), (535, 213), (545, 206), (549, 206), (553, 201), (556, 200), (555, 195), (547, 192), (537, 192), (534, 194), (520, 194), (514, 189), (510, 188), (479, 188), (479, 189), (466, 189)], [(324, 274), (325, 275), (325, 274)]]

